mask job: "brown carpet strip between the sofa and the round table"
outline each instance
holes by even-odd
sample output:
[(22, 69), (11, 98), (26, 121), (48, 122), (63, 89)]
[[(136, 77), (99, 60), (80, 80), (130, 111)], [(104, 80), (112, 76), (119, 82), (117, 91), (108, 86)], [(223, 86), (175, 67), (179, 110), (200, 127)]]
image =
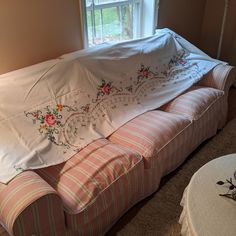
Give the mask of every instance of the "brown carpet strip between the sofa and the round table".
[(208, 161), (236, 153), (236, 119), (195, 150), (176, 171), (162, 179), (160, 188), (131, 208), (107, 233), (110, 235), (179, 236), (183, 191), (191, 176)]

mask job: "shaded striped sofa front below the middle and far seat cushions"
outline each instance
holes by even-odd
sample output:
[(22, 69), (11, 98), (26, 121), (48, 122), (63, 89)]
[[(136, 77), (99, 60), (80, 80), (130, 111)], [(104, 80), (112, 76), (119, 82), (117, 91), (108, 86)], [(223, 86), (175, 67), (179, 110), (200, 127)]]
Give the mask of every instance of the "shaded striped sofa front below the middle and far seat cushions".
[(226, 118), (225, 95), (217, 97), (198, 120), (169, 142), (155, 156), (150, 158), (152, 168), (145, 170), (145, 193), (152, 193), (161, 178), (176, 169), (200, 143), (216, 134), (222, 128)]

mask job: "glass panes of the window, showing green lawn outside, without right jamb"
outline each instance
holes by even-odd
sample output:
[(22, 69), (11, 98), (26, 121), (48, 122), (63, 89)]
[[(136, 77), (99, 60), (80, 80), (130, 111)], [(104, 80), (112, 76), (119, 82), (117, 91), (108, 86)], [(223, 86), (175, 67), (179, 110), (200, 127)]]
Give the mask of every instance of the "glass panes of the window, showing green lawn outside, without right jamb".
[(134, 22), (134, 15), (135, 18), (139, 16), (139, 3), (135, 2), (87, 0), (89, 45), (133, 39), (138, 27), (138, 19)]

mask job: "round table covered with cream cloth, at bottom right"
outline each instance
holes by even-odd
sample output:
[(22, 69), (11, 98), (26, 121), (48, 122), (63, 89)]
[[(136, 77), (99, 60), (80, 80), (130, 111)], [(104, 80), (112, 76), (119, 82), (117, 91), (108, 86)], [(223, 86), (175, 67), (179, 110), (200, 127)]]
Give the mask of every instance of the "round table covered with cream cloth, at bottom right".
[[(218, 181), (233, 179), (236, 154), (208, 162), (191, 178), (181, 201), (181, 234), (184, 236), (236, 236), (236, 201), (221, 197), (228, 191)], [(236, 190), (236, 189), (235, 189)]]

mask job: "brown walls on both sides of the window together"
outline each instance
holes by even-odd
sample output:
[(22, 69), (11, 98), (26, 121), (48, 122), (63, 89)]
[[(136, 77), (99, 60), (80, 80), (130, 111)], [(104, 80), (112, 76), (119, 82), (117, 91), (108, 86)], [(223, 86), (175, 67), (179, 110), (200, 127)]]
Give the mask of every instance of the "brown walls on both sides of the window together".
[[(82, 48), (80, 0), (0, 1), (0, 74)], [(160, 0), (169, 27), (215, 57), (224, 0)], [(221, 59), (236, 65), (236, 1), (230, 1)]]

